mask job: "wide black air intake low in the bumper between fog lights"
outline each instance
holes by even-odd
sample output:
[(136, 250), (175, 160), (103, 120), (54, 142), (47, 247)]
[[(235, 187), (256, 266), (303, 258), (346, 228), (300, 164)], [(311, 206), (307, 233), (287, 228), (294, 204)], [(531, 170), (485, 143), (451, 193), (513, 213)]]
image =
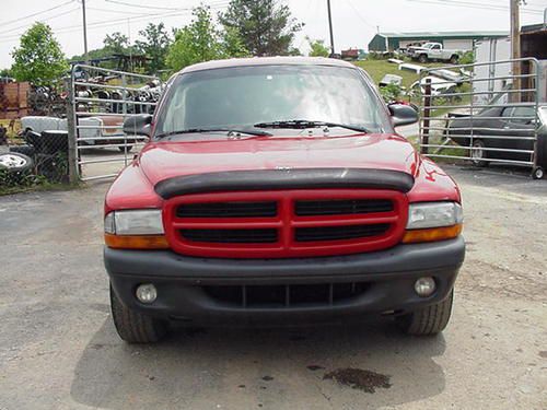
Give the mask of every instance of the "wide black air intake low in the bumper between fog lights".
[(244, 308), (331, 306), (363, 295), (369, 283), (202, 286), (217, 302)]

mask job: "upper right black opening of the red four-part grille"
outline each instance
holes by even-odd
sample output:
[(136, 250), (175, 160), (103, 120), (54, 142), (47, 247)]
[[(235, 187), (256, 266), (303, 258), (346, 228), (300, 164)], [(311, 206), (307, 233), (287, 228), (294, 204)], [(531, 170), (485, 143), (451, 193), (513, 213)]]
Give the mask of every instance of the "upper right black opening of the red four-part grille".
[(385, 199), (305, 200), (296, 201), (299, 216), (349, 215), (393, 211), (393, 201)]

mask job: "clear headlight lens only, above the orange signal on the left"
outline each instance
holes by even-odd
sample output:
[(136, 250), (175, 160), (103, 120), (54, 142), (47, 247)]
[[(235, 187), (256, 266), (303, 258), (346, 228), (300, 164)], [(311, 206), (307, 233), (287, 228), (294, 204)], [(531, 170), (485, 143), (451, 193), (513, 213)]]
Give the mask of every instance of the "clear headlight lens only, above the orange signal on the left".
[(104, 232), (112, 235), (163, 235), (162, 211), (143, 209), (110, 212), (104, 220)]

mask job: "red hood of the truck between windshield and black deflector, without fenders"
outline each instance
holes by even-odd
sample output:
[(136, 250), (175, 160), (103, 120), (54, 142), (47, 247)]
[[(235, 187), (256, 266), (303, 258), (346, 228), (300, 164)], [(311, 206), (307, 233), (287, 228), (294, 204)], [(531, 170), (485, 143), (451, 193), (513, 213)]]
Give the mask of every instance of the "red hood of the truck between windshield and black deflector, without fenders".
[(159, 141), (147, 144), (136, 165), (154, 186), (176, 176), (280, 168), (374, 168), (415, 176), (419, 161), (400, 136), (356, 134)]

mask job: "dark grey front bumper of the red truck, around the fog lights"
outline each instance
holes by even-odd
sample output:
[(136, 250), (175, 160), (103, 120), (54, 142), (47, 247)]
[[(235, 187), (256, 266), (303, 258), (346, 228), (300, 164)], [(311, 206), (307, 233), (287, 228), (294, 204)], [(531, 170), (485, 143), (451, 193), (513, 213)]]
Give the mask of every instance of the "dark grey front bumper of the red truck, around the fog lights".
[[(168, 250), (105, 248), (114, 291), (132, 309), (197, 324), (287, 324), (337, 321), (368, 314), (411, 312), (444, 300), (465, 256), (463, 237), (431, 244), (399, 245), (370, 254), (301, 259), (207, 259)], [(433, 277), (437, 291), (419, 297), (414, 283)], [(315, 285), (364, 283), (356, 297), (329, 303), (242, 306), (212, 297), (210, 286)], [(135, 297), (141, 283), (153, 283), (150, 305)], [(226, 288), (228, 289), (228, 288)]]

